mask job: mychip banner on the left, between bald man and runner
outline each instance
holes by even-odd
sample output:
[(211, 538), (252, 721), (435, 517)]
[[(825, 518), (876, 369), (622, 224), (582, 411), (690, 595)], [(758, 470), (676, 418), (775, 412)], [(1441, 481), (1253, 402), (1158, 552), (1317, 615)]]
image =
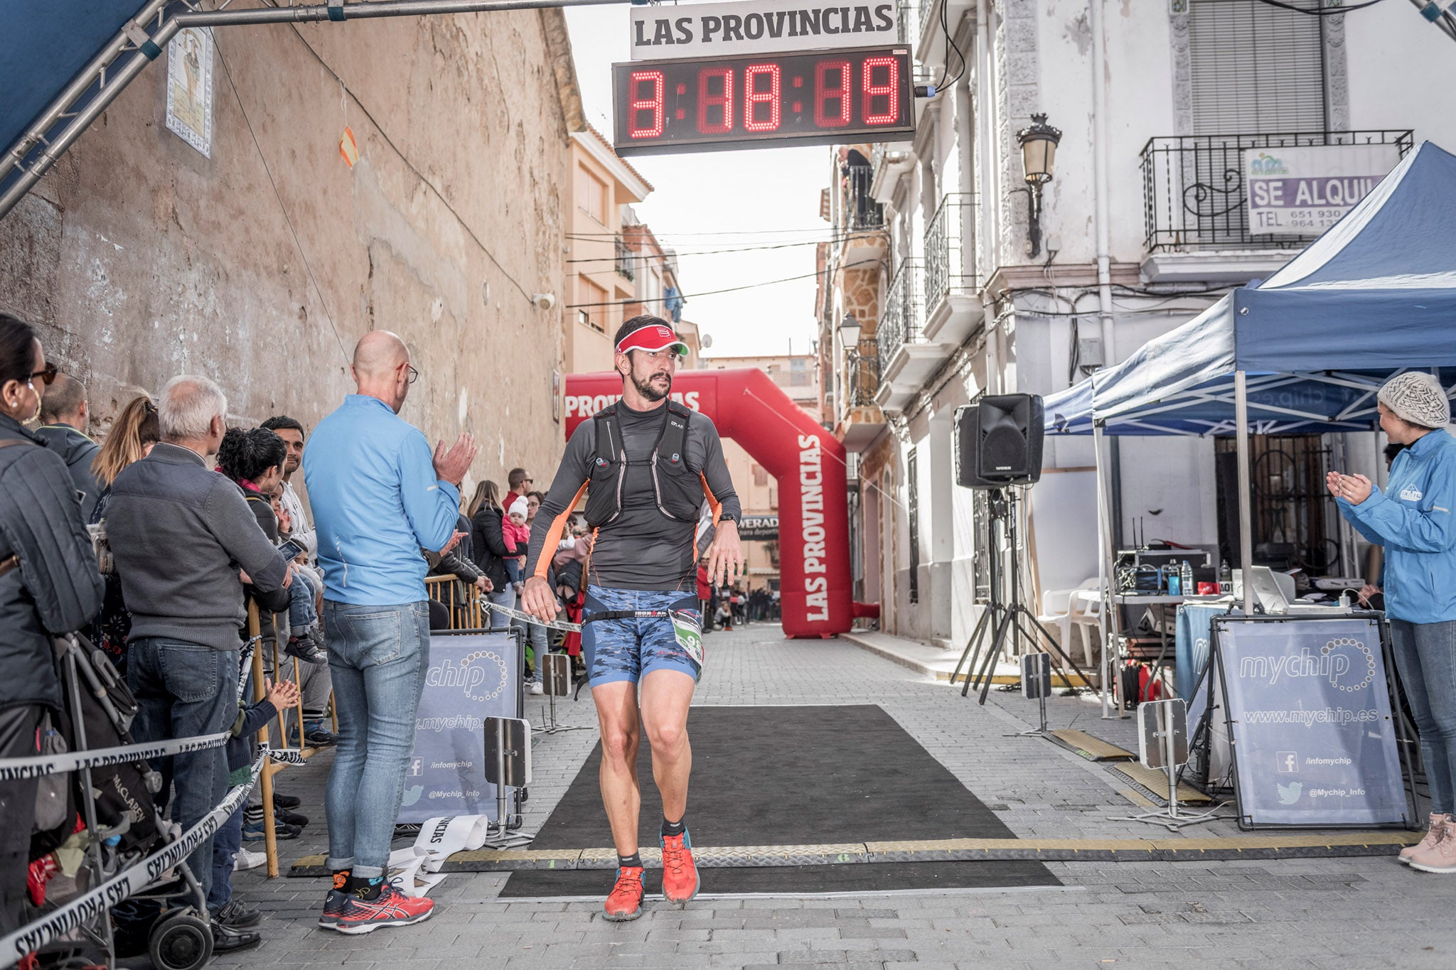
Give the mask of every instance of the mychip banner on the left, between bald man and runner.
[(430, 637), (400, 822), (467, 814), (495, 820), (495, 785), (485, 779), (485, 718), (521, 716), (521, 666), (515, 630)]

